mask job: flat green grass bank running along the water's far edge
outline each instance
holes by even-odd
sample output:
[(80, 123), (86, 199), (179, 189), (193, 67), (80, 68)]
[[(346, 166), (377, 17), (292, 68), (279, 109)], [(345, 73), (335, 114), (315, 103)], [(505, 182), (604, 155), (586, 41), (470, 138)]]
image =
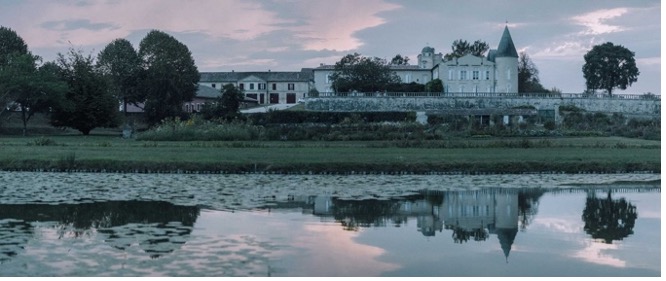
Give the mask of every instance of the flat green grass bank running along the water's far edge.
[(660, 142), (619, 137), (417, 142), (147, 142), (5, 137), (0, 170), (227, 174), (660, 173)]

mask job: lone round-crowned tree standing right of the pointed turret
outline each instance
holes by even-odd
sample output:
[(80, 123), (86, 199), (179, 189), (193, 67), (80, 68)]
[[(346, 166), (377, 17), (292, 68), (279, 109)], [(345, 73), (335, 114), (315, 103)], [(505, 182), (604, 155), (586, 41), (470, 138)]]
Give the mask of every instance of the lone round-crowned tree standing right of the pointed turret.
[(614, 88), (627, 89), (638, 81), (634, 52), (606, 42), (592, 47), (584, 56), (583, 76), (588, 90), (604, 89), (611, 96)]

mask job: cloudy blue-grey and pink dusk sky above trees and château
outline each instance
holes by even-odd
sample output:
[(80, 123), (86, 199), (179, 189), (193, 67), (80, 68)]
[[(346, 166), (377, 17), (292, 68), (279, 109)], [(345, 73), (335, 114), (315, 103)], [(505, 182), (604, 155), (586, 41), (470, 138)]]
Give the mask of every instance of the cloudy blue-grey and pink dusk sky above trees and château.
[(659, 0), (0, 0), (0, 26), (33, 54), (69, 48), (96, 56), (112, 40), (136, 49), (150, 30), (185, 44), (202, 72), (300, 71), (344, 55), (416, 63), (425, 46), (446, 54), (454, 40), (497, 48), (505, 26), (541, 84), (585, 89), (583, 56), (612, 42), (635, 53), (638, 81), (626, 91), (661, 93)]

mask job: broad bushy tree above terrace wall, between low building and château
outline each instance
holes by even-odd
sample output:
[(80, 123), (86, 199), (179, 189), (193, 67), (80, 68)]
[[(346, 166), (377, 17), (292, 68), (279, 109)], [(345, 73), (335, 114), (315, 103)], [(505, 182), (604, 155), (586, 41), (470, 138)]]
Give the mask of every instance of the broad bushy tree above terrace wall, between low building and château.
[(331, 80), (336, 92), (385, 91), (389, 85), (400, 83), (400, 77), (391, 70), (386, 60), (363, 57), (359, 53), (348, 54), (336, 62)]

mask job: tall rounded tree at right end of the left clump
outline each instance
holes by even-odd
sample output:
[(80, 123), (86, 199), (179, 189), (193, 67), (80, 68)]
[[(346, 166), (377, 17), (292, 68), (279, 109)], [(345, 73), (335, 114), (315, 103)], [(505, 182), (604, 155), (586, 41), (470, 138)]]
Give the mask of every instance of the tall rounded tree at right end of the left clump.
[(146, 94), (144, 111), (148, 123), (183, 115), (183, 103), (195, 97), (200, 78), (187, 46), (171, 35), (153, 30), (141, 40), (139, 57), (145, 71), (140, 85)]

